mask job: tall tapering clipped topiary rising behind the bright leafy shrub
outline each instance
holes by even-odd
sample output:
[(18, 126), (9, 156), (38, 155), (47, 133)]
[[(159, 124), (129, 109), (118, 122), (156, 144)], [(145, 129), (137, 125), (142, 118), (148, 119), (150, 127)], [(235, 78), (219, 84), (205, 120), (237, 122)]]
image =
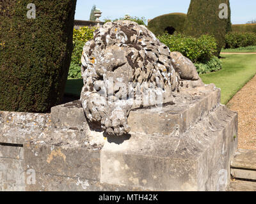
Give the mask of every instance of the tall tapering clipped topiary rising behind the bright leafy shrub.
[(213, 35), (218, 42), (218, 52), (225, 45), (225, 34), (228, 19), (219, 18), (219, 5), (228, 3), (228, 0), (191, 0), (189, 5), (184, 34), (199, 37), (202, 34)]

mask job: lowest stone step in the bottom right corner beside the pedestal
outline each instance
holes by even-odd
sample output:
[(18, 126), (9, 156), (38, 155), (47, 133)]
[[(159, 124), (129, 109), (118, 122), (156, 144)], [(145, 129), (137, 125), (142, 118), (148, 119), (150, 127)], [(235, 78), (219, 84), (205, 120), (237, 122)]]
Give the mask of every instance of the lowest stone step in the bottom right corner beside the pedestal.
[(227, 191), (256, 191), (256, 182), (236, 180), (230, 182)]

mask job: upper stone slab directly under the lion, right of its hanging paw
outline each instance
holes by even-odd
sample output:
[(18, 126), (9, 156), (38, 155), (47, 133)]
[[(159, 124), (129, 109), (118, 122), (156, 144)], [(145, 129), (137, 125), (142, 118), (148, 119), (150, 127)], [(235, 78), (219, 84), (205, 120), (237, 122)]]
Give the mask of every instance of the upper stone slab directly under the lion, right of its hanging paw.
[(181, 89), (172, 105), (132, 110), (127, 122), (132, 133), (181, 136), (219, 105), (220, 89), (211, 85)]

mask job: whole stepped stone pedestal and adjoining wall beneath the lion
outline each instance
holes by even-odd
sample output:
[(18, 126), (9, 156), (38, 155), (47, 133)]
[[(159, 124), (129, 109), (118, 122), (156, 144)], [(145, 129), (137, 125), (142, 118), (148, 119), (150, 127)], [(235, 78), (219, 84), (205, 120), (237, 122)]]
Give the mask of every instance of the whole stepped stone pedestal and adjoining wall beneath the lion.
[[(20, 180), (1, 179), (0, 189), (226, 189), (237, 148), (237, 113), (220, 104), (214, 85), (181, 89), (161, 110), (132, 110), (128, 124), (129, 135), (104, 137), (88, 125), (79, 101), (53, 107), (51, 114), (0, 112), (0, 143), (23, 145), (13, 147), (22, 156), (9, 174), (24, 172)], [(2, 157), (3, 178), (15, 158), (6, 162)]]

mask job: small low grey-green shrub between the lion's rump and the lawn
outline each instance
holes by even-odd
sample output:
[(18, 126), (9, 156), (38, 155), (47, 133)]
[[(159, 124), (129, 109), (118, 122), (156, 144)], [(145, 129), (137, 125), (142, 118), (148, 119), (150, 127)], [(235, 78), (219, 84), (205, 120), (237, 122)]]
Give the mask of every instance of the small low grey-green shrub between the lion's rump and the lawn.
[(195, 63), (196, 71), (199, 75), (212, 72), (212, 71), (218, 71), (221, 69), (221, 61), (218, 57), (213, 56), (209, 61), (205, 63)]

